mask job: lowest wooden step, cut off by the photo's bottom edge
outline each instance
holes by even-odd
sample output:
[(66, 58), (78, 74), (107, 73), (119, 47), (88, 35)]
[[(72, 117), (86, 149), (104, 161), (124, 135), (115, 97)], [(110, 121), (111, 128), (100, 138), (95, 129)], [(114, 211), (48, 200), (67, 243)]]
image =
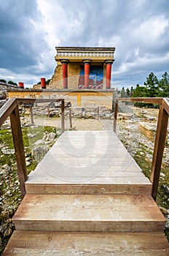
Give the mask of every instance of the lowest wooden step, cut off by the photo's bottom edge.
[(168, 256), (163, 233), (57, 233), (16, 230), (4, 250), (10, 255)]

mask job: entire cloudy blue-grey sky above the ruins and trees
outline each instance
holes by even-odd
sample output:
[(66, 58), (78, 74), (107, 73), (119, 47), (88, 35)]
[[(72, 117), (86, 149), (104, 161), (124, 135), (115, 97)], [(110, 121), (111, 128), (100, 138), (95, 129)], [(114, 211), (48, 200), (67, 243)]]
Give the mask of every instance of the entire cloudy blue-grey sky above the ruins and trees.
[(51, 78), (55, 46), (115, 47), (115, 87), (169, 72), (168, 0), (0, 0), (0, 13), (0, 78)]

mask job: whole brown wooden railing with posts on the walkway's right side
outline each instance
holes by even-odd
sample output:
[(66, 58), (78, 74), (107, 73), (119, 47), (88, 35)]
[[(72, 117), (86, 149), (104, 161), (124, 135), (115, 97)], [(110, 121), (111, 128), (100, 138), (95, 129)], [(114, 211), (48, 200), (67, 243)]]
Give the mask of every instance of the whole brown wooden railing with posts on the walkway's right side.
[(152, 197), (154, 200), (157, 198), (157, 189), (160, 179), (160, 171), (162, 165), (162, 157), (165, 148), (165, 140), (168, 129), (168, 116), (169, 116), (169, 100), (168, 98), (118, 98), (115, 100), (114, 109), (114, 132), (117, 127), (117, 113), (118, 113), (118, 101), (126, 102), (144, 102), (159, 104), (159, 115), (157, 121), (157, 131), (154, 143), (154, 152), (152, 158), (152, 170), (150, 174), (150, 181), (152, 181)]

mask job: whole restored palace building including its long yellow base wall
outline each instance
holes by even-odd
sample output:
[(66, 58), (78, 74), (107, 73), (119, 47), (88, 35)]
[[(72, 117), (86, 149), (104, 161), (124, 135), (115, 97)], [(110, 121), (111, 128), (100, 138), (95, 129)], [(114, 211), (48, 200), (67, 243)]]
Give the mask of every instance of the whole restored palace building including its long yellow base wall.
[(9, 97), (60, 98), (71, 101), (72, 105), (112, 106), (111, 67), (114, 63), (115, 48), (56, 47), (57, 66), (50, 83), (33, 89), (19, 88), (9, 91)]

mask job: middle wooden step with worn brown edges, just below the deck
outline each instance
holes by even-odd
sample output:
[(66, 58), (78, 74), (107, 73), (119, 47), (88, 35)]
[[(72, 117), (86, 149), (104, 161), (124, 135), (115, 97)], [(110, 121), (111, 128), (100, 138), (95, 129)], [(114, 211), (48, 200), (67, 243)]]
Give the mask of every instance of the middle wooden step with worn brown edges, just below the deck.
[(13, 222), (17, 230), (154, 232), (165, 218), (148, 195), (27, 194)]

